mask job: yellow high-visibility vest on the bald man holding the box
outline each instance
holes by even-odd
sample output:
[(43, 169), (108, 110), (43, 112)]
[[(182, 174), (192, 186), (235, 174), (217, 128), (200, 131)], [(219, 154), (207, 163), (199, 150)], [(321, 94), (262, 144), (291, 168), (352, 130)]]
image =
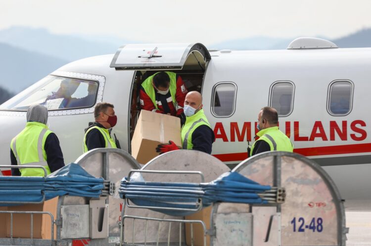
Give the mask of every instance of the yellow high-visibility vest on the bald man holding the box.
[(192, 133), (200, 125), (207, 125), (211, 128), (210, 123), (203, 112), (203, 109), (198, 111), (196, 114), (185, 118), (185, 124), (182, 127), (183, 149), (186, 150), (193, 149)]

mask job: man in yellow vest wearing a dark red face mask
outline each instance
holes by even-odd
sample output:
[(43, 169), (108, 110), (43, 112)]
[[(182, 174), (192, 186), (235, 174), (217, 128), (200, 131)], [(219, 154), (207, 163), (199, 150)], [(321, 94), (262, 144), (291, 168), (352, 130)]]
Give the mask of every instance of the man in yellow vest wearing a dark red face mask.
[(94, 108), (95, 122), (85, 129), (83, 152), (96, 148), (117, 148), (117, 139), (111, 137), (110, 130), (117, 123), (113, 104), (101, 102)]

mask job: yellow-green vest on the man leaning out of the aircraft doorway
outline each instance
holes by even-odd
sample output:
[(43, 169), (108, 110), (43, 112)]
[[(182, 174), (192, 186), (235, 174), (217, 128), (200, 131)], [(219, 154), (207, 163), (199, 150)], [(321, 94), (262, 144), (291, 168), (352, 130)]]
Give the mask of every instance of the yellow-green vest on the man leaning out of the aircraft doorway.
[[(170, 94), (171, 94), (171, 98), (173, 100), (173, 104), (174, 104), (174, 108), (175, 110), (178, 110), (178, 103), (177, 103), (177, 100), (176, 100), (176, 94), (177, 94), (177, 74), (176, 73), (173, 73), (173, 72), (165, 72), (169, 75), (169, 78), (170, 78)], [(153, 88), (153, 84), (152, 84), (152, 80), (153, 80), (153, 77), (158, 74), (158, 73), (155, 73), (154, 75), (152, 76), (149, 76), (144, 82), (141, 83), (141, 86), (143, 87), (145, 93), (149, 96), (149, 98), (151, 99), (154, 107), (156, 108), (156, 110), (158, 110), (158, 107), (157, 107), (157, 102), (156, 102), (156, 94), (155, 94), (155, 89)]]

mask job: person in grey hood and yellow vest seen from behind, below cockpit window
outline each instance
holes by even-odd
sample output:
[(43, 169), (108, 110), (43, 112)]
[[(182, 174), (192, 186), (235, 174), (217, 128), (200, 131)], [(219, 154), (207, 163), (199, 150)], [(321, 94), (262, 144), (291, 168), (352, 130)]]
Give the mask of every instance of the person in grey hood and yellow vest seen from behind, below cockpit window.
[[(32, 105), (27, 110), (26, 127), (10, 143), (12, 165), (41, 165), (47, 174), (64, 166), (57, 136), (48, 129), (47, 109)], [(41, 168), (12, 168), (13, 176), (44, 176)]]

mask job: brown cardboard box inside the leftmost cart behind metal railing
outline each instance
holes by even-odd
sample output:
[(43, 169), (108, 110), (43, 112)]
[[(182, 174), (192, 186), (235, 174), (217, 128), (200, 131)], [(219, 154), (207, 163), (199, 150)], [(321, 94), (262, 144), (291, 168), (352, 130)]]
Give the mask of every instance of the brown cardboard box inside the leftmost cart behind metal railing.
[[(45, 211), (50, 212), (57, 218), (58, 197), (50, 199), (43, 204), (28, 204), (19, 206), (8, 206), (8, 211)], [(50, 239), (51, 238), (51, 219), (47, 214), (33, 215), (33, 238)], [(6, 237), (10, 237), (10, 215), (6, 218)], [(20, 213), (13, 214), (13, 238), (31, 237), (31, 215)], [(56, 226), (54, 226), (54, 239), (56, 239)]]

